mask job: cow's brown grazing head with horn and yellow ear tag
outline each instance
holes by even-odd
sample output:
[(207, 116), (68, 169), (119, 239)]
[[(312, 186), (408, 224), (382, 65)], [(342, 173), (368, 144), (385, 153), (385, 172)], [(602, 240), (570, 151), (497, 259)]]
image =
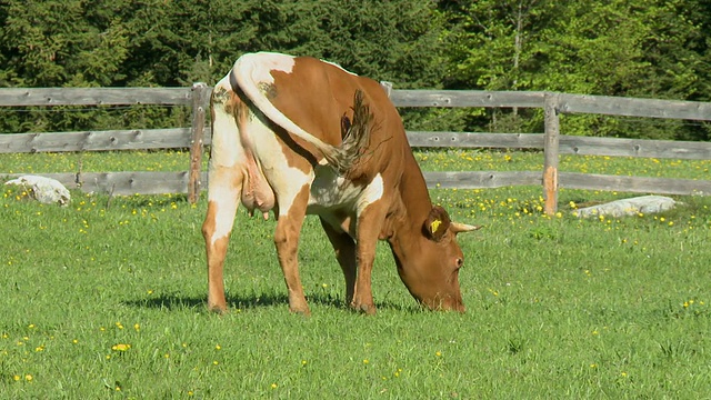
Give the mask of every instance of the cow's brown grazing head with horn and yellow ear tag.
[(410, 293), (432, 310), (464, 311), (459, 288), (459, 270), (464, 256), (457, 233), (480, 227), (452, 222), (447, 211), (437, 206), (424, 221), (414, 242), (393, 248), (398, 273)]

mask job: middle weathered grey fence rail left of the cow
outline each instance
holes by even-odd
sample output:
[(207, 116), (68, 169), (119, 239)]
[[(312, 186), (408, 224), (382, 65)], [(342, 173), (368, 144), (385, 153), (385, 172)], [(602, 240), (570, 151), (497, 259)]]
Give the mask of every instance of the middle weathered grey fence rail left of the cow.
[(0, 134), (0, 153), (188, 147), (190, 128)]

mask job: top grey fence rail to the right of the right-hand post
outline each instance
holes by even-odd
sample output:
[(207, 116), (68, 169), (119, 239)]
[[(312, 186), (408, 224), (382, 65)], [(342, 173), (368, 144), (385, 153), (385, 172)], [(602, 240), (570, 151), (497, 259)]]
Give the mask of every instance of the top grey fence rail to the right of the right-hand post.
[(598, 113), (711, 121), (711, 103), (699, 101), (561, 93), (558, 109), (563, 113)]

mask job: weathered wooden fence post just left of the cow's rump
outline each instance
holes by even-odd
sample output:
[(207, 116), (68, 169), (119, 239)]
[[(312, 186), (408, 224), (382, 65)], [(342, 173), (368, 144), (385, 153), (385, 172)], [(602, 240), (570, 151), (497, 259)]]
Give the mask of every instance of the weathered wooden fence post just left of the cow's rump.
[(203, 136), (206, 121), (206, 107), (210, 88), (202, 82), (193, 83), (190, 90), (192, 96), (192, 128), (190, 139), (190, 170), (188, 171), (188, 201), (191, 204), (200, 199), (200, 174), (202, 167)]

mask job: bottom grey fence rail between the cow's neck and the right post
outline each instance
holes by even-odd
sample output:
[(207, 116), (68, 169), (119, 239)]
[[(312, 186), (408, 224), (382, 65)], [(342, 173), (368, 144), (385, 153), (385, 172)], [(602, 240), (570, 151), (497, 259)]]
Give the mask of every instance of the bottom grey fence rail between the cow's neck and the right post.
[(531, 171), (423, 172), (423, 174), (430, 189), (485, 189), (542, 183), (542, 173)]

